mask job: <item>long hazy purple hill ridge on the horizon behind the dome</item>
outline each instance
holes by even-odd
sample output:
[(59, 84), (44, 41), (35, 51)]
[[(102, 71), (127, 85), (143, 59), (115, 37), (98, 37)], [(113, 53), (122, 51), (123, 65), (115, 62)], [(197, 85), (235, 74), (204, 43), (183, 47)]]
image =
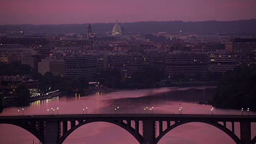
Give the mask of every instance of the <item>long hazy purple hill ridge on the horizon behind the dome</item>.
[[(95, 23), (90, 24), (93, 33), (105, 33), (112, 31), (114, 23)], [(132, 22), (119, 23), (127, 32), (153, 33), (153, 32), (193, 32), (193, 33), (255, 33), (256, 19), (236, 20), (236, 21), (204, 21), (204, 22)], [(66, 34), (78, 33), (85, 34), (88, 24), (60, 24), (60, 25), (0, 25), (0, 32), (24, 31), (40, 32), (46, 34)]]

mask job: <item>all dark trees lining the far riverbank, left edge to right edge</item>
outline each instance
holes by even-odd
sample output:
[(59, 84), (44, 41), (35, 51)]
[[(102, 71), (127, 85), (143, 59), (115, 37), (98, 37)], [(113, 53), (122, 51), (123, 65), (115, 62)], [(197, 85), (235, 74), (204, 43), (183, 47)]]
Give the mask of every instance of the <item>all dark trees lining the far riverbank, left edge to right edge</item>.
[[(108, 88), (118, 89), (141, 89), (155, 88), (162, 86), (174, 86), (173, 82), (188, 82), (190, 77), (185, 74), (176, 74), (168, 77), (163, 70), (154, 68), (144, 68), (143, 72), (134, 72), (132, 76), (122, 79), (118, 70), (102, 70), (97, 72), (92, 79), (85, 75), (72, 79), (64, 76), (54, 76), (51, 72), (44, 75), (33, 70), (29, 65), (12, 62), (10, 64), (0, 64), (0, 75), (23, 75), (29, 74), (33, 80), (39, 81), (40, 90), (60, 90), (71, 94), (74, 91), (84, 92), (88, 90), (89, 81), (99, 82), (100, 85)], [(164, 80), (164, 84), (162, 84)], [(220, 72), (207, 72), (205, 75), (197, 74), (194, 81), (217, 81), (218, 87), (210, 104), (220, 108), (246, 108), (256, 110), (256, 66), (241, 65), (234, 70), (227, 71), (225, 74)], [(1, 84), (4, 84), (2, 81)], [(162, 84), (162, 85), (160, 85)], [(30, 98), (26, 85), (20, 85), (14, 91), (15, 105), (23, 106), (28, 103)], [(1, 95), (3, 98), (3, 94)], [(2, 107), (2, 98), (0, 98), (0, 110)]]

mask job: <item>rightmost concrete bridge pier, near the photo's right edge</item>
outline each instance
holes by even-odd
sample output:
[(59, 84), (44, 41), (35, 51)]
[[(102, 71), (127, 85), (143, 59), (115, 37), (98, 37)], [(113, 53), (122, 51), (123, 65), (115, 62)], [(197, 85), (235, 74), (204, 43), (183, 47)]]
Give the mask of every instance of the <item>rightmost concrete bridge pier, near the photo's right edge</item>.
[(241, 144), (251, 144), (251, 123), (249, 121), (240, 122)]

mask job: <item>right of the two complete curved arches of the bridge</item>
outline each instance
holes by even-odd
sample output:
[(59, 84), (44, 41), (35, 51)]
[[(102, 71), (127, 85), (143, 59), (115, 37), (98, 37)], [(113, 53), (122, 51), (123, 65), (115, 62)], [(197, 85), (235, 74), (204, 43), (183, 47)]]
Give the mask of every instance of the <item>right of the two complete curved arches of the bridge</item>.
[(210, 121), (210, 122), (205, 122), (205, 121), (179, 121), (179, 122), (175, 122), (175, 124), (173, 124), (172, 126), (170, 126), (169, 128), (166, 128), (166, 130), (164, 130), (162, 133), (159, 134), (159, 136), (154, 140), (155, 143), (158, 143), (158, 141), (165, 135), (167, 134), (170, 130), (176, 128), (177, 126), (180, 126), (182, 124), (187, 124), (187, 123), (191, 123), (191, 122), (200, 122), (200, 123), (205, 123), (205, 124), (210, 124), (220, 130), (222, 130), (223, 132), (225, 132), (226, 134), (228, 134), (228, 136), (230, 136), (230, 138), (232, 138), (234, 140), (234, 142), (236, 142), (236, 144), (240, 144), (240, 139), (234, 134), (232, 134), (232, 131), (229, 130), (228, 128), (225, 128), (224, 126), (222, 126), (221, 124), (219, 124), (218, 122), (214, 122), (214, 121)]

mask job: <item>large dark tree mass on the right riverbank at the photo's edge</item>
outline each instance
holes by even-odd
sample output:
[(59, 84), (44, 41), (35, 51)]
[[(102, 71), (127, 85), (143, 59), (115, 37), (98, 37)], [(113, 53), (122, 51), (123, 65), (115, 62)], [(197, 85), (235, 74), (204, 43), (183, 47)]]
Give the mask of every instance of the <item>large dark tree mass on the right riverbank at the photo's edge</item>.
[(256, 66), (240, 65), (219, 80), (210, 104), (219, 108), (256, 110)]

